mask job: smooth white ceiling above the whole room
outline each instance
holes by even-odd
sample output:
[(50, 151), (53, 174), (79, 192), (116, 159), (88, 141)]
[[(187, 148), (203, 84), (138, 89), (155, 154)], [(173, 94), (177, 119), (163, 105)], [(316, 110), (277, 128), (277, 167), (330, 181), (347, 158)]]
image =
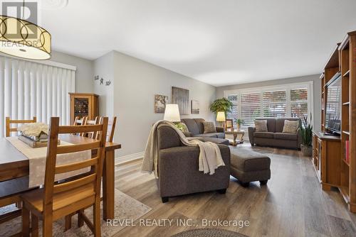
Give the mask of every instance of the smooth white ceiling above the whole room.
[(117, 50), (221, 86), (320, 73), (356, 30), (355, 10), (355, 0), (69, 0), (42, 10), (41, 25), (53, 50)]

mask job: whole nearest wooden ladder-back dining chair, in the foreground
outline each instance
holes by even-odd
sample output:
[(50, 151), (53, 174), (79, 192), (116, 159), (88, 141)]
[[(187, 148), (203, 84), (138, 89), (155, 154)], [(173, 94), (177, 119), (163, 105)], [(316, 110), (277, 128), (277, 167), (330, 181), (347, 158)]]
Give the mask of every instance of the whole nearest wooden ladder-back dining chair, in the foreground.
[[(30, 214), (32, 236), (38, 236), (38, 219), (42, 219), (43, 237), (49, 237), (53, 234), (53, 221), (73, 212), (78, 213), (78, 219), (82, 219), (88, 225), (94, 236), (101, 236), (100, 185), (107, 129), (108, 118), (103, 118), (102, 124), (83, 126), (59, 126), (59, 118), (51, 118), (44, 187), (21, 195), (23, 200), (23, 236), (30, 235)], [(57, 145), (58, 134), (90, 132), (100, 132), (100, 139), (76, 145)], [(83, 150), (97, 150), (98, 152), (94, 158), (88, 160), (56, 165), (58, 154)], [(91, 167), (90, 172), (61, 182), (54, 180), (56, 174), (80, 170), (85, 167)], [(82, 211), (88, 206), (93, 206), (93, 224)]]

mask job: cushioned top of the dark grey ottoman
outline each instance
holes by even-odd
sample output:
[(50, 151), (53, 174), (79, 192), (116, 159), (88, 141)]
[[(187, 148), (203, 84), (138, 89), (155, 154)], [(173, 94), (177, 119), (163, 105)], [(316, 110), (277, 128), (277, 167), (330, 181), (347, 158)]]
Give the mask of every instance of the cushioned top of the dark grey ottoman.
[(231, 150), (231, 166), (244, 172), (269, 170), (271, 159), (267, 155), (246, 148)]

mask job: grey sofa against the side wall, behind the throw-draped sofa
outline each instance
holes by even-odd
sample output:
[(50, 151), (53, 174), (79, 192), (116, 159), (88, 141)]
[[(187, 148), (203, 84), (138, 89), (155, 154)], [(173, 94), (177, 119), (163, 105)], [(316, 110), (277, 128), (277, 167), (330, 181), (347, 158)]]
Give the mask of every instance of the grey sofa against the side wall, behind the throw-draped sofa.
[(203, 118), (183, 118), (182, 122), (187, 125), (190, 136), (192, 137), (209, 137), (209, 138), (225, 138), (225, 130), (221, 127), (216, 127), (216, 133), (204, 133)]

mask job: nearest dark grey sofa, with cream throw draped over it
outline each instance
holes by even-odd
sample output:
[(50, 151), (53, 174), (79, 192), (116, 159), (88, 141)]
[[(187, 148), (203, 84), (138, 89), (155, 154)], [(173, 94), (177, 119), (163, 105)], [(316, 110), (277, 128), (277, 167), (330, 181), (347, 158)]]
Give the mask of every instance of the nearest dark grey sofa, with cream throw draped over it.
[(161, 126), (157, 133), (157, 184), (162, 202), (183, 194), (213, 190), (226, 192), (230, 180), (230, 148), (227, 145), (219, 144), (225, 166), (216, 169), (214, 175), (204, 175), (199, 171), (199, 147), (183, 145), (173, 128)]

